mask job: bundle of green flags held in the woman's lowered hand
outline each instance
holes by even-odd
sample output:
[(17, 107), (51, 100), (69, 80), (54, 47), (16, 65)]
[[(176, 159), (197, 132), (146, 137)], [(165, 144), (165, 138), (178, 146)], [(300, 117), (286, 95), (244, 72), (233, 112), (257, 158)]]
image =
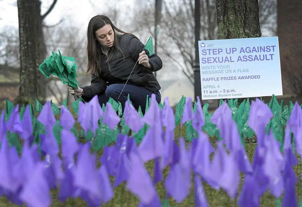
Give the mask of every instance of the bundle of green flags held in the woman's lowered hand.
[(79, 83), (76, 80), (76, 69), (78, 67), (76, 66), (75, 58), (61, 55), (60, 50), (59, 54), (51, 53), (52, 55), (40, 64), (39, 70), (41, 73), (47, 78), (53, 74), (61, 79), (63, 84), (78, 88)]

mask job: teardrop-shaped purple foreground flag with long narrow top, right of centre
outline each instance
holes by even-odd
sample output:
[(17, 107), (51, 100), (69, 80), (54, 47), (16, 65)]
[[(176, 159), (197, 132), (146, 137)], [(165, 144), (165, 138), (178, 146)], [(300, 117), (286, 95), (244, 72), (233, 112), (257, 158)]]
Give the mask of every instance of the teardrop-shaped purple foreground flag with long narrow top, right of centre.
[(188, 160), (188, 153), (185, 150), (185, 141), (179, 139), (180, 153), (179, 162), (171, 166), (169, 175), (165, 180), (167, 193), (176, 202), (181, 203), (190, 193), (191, 168)]

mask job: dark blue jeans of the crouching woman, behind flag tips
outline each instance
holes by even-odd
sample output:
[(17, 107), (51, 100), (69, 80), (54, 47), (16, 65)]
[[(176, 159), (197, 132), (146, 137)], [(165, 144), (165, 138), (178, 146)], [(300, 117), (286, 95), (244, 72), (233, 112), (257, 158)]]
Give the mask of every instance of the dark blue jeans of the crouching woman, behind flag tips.
[[(140, 107), (143, 114), (145, 114), (147, 95), (149, 95), (149, 98), (151, 98), (151, 94), (153, 92), (141, 86), (127, 84), (123, 90), (123, 93), (120, 95), (120, 92), (122, 91), (124, 85), (125, 84), (112, 84), (108, 86), (105, 93), (98, 95), (98, 101), (100, 105), (102, 106), (103, 104), (106, 104), (106, 102), (108, 102), (109, 98), (111, 97), (111, 99), (113, 99), (114, 101), (121, 103), (124, 112), (125, 103), (129, 94), (134, 108), (138, 110), (138, 108)], [(120, 98), (118, 99), (119, 95)], [(155, 95), (156, 101), (159, 104), (161, 102), (162, 96), (159, 91), (155, 92)]]

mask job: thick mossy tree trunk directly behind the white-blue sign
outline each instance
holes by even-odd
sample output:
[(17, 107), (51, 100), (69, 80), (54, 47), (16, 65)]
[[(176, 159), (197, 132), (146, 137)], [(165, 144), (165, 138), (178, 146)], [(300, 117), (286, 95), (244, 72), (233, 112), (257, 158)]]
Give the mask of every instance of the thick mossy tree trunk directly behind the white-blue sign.
[[(258, 0), (217, 0), (216, 10), (218, 39), (261, 37)], [(238, 106), (243, 100), (238, 99)]]

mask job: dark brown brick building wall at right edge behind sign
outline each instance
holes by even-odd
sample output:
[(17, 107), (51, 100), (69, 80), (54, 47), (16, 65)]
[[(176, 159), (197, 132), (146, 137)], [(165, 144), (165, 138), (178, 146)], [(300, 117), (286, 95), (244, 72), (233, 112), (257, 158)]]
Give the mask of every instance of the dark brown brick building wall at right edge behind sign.
[(302, 1), (277, 0), (283, 94), (302, 95)]

